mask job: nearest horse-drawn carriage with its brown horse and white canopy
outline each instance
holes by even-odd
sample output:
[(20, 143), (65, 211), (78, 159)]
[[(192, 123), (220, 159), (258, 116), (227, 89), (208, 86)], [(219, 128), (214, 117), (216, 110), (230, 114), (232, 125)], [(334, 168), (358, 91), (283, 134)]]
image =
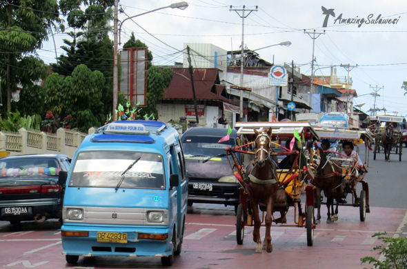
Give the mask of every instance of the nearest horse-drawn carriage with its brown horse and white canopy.
[[(235, 175), (241, 183), (237, 243), (244, 241), (244, 227), (254, 226), (256, 252), (261, 252), (259, 228), (263, 225), (266, 226), (263, 248), (271, 252), (270, 226), (274, 221), (279, 226), (306, 228), (307, 245), (312, 246), (314, 194), (312, 186), (306, 183), (312, 179), (319, 165), (313, 147), (313, 142), (319, 141), (319, 137), (314, 128), (308, 122), (241, 122), (236, 123), (236, 127), (244, 145), (228, 149), (227, 156), (232, 159), (232, 169), (237, 170)], [(237, 152), (243, 153), (244, 161), (236, 157)], [(306, 195), (305, 211), (301, 205), (303, 192)], [(286, 219), (290, 207), (295, 210), (293, 224), (287, 224)], [(275, 218), (275, 212), (281, 216)]]

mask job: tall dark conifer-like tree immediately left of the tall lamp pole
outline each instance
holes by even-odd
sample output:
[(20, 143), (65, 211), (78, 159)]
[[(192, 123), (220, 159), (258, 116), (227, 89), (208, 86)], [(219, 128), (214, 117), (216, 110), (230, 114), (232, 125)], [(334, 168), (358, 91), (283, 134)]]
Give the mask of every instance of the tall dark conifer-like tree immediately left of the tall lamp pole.
[[(113, 42), (108, 36), (113, 19), (112, 6), (114, 0), (61, 0), (62, 14), (67, 16), (68, 26), (74, 28), (70, 32), (72, 41), (64, 40), (66, 46), (61, 48), (66, 55), (61, 55), (58, 63), (53, 63), (54, 72), (70, 75), (80, 64), (90, 70), (99, 70), (106, 78), (101, 86), (102, 97), (100, 107), (93, 114), (103, 124), (106, 114), (112, 108), (113, 97)], [(81, 8), (85, 6), (85, 10)]]

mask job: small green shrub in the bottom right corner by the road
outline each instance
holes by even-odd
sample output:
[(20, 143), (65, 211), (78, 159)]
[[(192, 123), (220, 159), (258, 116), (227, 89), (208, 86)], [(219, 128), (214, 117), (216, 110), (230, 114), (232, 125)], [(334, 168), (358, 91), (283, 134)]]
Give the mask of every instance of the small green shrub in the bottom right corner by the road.
[(379, 260), (374, 257), (361, 258), (361, 263), (373, 263), (374, 268), (379, 269), (401, 269), (407, 268), (407, 238), (383, 237), (386, 232), (377, 232), (373, 237), (381, 239), (387, 246), (375, 246), (372, 251), (378, 250), (379, 255), (386, 257)]

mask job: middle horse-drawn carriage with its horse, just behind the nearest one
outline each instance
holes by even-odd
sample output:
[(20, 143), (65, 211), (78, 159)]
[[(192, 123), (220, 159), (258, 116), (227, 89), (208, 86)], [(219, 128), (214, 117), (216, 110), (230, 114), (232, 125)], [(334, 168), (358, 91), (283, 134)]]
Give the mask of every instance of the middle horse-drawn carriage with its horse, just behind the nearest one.
[[(315, 180), (312, 181), (317, 189), (315, 198), (317, 202), (317, 222), (321, 218), (322, 190), (324, 190), (327, 197), (328, 223), (337, 220), (339, 201), (343, 206), (359, 207), (360, 220), (365, 221), (366, 212), (370, 212), (370, 208), (368, 183), (364, 181), (364, 174), (367, 172), (369, 150), (372, 150), (370, 148), (373, 143), (372, 135), (366, 130), (355, 128), (316, 127), (315, 130), (322, 139), (322, 143), (330, 143), (331, 146), (335, 145), (334, 148), (318, 152), (321, 160), (317, 171), (315, 171)], [(364, 163), (359, 159), (359, 148), (354, 151), (354, 145), (363, 143), (366, 146)], [(348, 146), (345, 147), (346, 144)], [(359, 197), (356, 190), (357, 183), (361, 183), (362, 187)], [(344, 200), (348, 194), (352, 195), (350, 203)], [(334, 199), (337, 201), (335, 212), (333, 209)], [(330, 209), (332, 209), (332, 214), (330, 214)]]

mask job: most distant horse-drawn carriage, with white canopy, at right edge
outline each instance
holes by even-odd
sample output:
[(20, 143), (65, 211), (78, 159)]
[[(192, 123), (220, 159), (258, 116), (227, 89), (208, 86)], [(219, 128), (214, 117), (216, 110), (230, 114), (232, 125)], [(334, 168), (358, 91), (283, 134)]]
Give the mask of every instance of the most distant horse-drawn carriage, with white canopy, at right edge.
[(386, 161), (390, 161), (391, 153), (399, 155), (399, 161), (401, 161), (403, 133), (399, 125), (403, 123), (403, 120), (404, 117), (377, 115), (374, 126), (369, 128), (375, 137), (374, 160), (376, 159), (376, 154), (380, 153), (381, 147), (383, 148), (384, 159)]

